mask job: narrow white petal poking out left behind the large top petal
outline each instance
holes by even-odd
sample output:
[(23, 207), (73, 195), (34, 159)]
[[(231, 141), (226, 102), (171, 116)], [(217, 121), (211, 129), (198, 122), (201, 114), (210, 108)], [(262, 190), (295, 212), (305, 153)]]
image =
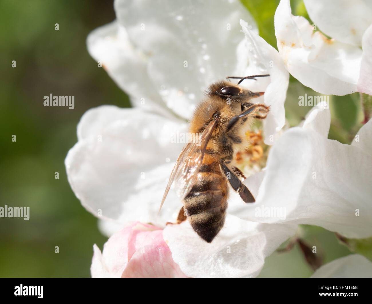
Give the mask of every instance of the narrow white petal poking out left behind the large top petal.
[(102, 63), (116, 84), (131, 96), (135, 105), (148, 111), (169, 113), (147, 74), (145, 54), (132, 45), (125, 28), (118, 22), (114, 21), (91, 32), (87, 37), (87, 48), (90, 55)]

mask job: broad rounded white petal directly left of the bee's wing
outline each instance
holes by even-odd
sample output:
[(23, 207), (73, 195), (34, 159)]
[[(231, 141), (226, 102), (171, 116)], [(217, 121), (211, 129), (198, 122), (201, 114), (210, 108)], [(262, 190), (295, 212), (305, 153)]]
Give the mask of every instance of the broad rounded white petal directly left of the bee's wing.
[(180, 127), (177, 121), (140, 109), (105, 106), (84, 114), (78, 126), (80, 140), (65, 160), (68, 180), (81, 204), (104, 219), (164, 225), (173, 218), (175, 206), (181, 207), (170, 191), (161, 216), (157, 216), (183, 146), (172, 143), (172, 136), (182, 131)]

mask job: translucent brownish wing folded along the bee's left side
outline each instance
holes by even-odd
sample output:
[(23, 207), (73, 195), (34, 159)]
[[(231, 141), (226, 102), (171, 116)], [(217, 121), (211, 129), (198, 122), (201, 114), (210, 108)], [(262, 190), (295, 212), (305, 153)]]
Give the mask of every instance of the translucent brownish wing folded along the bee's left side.
[(198, 176), (208, 141), (216, 126), (217, 121), (212, 120), (203, 131), (199, 141), (188, 143), (183, 147), (173, 167), (172, 173), (170, 174), (169, 182), (165, 189), (163, 199), (161, 200), (159, 212), (174, 180), (176, 180), (177, 194), (181, 199), (184, 199), (190, 192), (192, 186), (196, 182), (196, 177)]

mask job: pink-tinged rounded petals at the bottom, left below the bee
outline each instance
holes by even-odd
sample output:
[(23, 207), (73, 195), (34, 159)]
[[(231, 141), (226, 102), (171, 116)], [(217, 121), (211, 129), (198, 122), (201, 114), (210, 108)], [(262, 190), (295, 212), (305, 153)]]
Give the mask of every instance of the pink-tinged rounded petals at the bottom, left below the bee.
[(163, 230), (134, 222), (114, 233), (101, 254), (94, 245), (93, 278), (186, 278), (173, 261)]

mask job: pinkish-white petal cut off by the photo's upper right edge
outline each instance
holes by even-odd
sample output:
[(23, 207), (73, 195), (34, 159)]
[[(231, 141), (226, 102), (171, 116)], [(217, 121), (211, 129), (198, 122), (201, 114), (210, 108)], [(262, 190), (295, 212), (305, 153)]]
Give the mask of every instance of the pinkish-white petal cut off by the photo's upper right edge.
[(363, 35), (362, 48), (358, 92), (372, 95), (372, 24)]

